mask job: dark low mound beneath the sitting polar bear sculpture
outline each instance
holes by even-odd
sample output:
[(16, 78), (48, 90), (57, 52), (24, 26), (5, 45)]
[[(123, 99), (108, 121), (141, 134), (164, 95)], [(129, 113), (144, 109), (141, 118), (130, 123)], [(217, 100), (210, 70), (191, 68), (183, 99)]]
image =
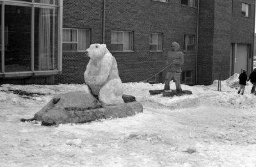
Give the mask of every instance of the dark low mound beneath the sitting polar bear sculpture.
[[(74, 96), (77, 93), (79, 95)], [(70, 95), (72, 96), (70, 97)], [(86, 99), (87, 103), (91, 104), (90, 107), (77, 106), (77, 102), (82, 104), (84, 99), (81, 99), (81, 97), (84, 96), (87, 96), (85, 92), (69, 92), (58, 95), (58, 97), (54, 97), (46, 106), (35, 113), (34, 118), (42, 121), (42, 125), (56, 125), (60, 123), (86, 123), (106, 118), (124, 118), (143, 112), (143, 106), (140, 102), (133, 101), (116, 106), (102, 107), (99, 105), (99, 101), (90, 94), (88, 94), (90, 98)], [(56, 99), (59, 100), (56, 102)], [(72, 99), (72, 104), (68, 103), (70, 99)], [(91, 102), (95, 103), (95, 105), (92, 105)], [(59, 103), (61, 105), (58, 105)]]

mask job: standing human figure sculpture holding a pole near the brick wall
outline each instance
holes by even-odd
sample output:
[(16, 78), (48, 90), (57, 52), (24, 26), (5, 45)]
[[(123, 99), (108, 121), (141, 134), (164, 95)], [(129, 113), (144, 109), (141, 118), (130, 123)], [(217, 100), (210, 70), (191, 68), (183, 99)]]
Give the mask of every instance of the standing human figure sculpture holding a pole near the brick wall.
[(177, 91), (182, 91), (180, 88), (180, 74), (182, 72), (180, 65), (184, 63), (184, 54), (180, 50), (180, 45), (177, 42), (172, 43), (172, 51), (167, 54), (166, 65), (170, 65), (165, 76), (164, 90), (170, 90), (170, 80), (173, 80)]

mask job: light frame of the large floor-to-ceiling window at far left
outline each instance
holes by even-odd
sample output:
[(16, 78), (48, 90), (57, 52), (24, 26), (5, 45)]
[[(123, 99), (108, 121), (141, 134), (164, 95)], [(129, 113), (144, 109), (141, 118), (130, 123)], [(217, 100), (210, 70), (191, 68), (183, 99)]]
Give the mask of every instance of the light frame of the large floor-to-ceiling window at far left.
[[(10, 1), (10, 0), (5, 0), (5, 1), (0, 1), (1, 4), (1, 52), (2, 54), (0, 55), (0, 63), (1, 63), (1, 70), (0, 70), (0, 79), (2, 77), (24, 77), (24, 76), (52, 76), (56, 74), (61, 74), (62, 71), (62, 18), (63, 18), (63, 0), (58, 0), (56, 1), (58, 4), (47, 4), (47, 3), (35, 3), (35, 1)], [(4, 31), (4, 24), (5, 24), (5, 18), (4, 15), (6, 14), (5, 12), (5, 5), (10, 5), (10, 6), (26, 6), (31, 8), (31, 70), (29, 71), (20, 71), (20, 72), (5, 72), (5, 61), (4, 61), (4, 56), (5, 56), (5, 49), (4, 49), (4, 36), (5, 36), (5, 31)], [(58, 17), (56, 17), (58, 20), (56, 24), (58, 24), (58, 36), (54, 37), (54, 40), (57, 40), (58, 42), (58, 49), (57, 51), (57, 58), (58, 58), (58, 63), (57, 63), (57, 68), (54, 70), (36, 70), (35, 69), (35, 8), (49, 8), (53, 10), (58, 10)], [(55, 19), (55, 18), (53, 18)], [(10, 30), (9, 30), (10, 32)], [(55, 31), (53, 32), (55, 33)], [(55, 36), (55, 35), (53, 35)], [(10, 47), (12, 47), (11, 44), (9, 44)], [(53, 46), (54, 47), (54, 46)]]

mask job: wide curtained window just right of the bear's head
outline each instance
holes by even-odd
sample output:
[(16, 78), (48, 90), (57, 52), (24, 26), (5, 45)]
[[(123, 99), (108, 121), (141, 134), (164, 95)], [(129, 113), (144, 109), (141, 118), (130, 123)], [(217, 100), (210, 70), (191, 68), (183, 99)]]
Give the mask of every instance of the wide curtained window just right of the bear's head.
[(111, 51), (132, 51), (132, 31), (111, 31)]

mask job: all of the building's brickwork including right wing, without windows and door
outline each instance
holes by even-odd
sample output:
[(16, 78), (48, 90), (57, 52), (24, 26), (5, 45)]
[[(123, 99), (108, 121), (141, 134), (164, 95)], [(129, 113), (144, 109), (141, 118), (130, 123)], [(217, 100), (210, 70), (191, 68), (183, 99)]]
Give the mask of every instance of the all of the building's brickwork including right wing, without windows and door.
[[(251, 4), (251, 17), (241, 16), (241, 3)], [(230, 45), (253, 44), (253, 0), (201, 0), (198, 34), (198, 84), (211, 84), (230, 75)], [(103, 0), (63, 0), (63, 28), (90, 28), (92, 44), (102, 43)], [(105, 43), (111, 51), (111, 31), (133, 31), (133, 52), (112, 52), (122, 81), (143, 81), (164, 68), (166, 51), (178, 42), (184, 48), (184, 35), (196, 37), (197, 8), (180, 1), (106, 1)], [(163, 33), (163, 52), (149, 51), (149, 33)], [(195, 39), (196, 42), (196, 39)], [(55, 83), (84, 83), (88, 58), (83, 52), (63, 52), (63, 72)], [(196, 52), (184, 52), (182, 70), (193, 70)], [(164, 75), (163, 75), (164, 77)]]

